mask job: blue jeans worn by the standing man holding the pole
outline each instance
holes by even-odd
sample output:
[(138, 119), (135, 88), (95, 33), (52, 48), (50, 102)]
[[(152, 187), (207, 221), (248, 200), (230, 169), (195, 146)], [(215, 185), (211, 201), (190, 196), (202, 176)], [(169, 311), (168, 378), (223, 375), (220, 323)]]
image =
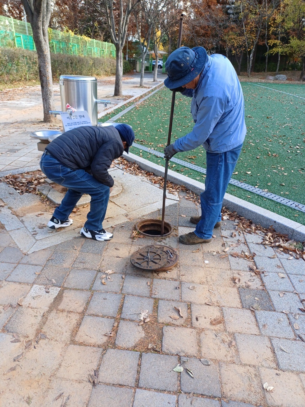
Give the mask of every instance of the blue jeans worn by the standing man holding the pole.
[(211, 239), (214, 226), (221, 221), (222, 200), (234, 171), (242, 144), (225, 153), (207, 151), (207, 176), (205, 191), (200, 194), (201, 221), (195, 234), (201, 239)]

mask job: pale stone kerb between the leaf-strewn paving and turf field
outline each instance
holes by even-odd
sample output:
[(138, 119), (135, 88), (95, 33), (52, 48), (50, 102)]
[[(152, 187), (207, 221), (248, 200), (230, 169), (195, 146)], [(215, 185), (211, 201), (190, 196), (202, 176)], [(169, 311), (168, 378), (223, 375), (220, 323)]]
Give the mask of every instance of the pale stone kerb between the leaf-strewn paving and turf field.
[[(129, 162), (136, 162), (143, 170), (152, 172), (158, 176), (164, 176), (164, 167), (153, 162), (145, 160), (133, 153), (123, 153), (123, 157)], [(168, 170), (168, 180), (175, 184), (181, 184), (200, 195), (205, 190), (205, 185), (185, 175)], [(290, 239), (296, 241), (305, 241), (305, 226), (301, 223), (292, 221), (270, 210), (251, 204), (244, 199), (234, 197), (230, 194), (224, 195), (223, 205), (229, 210), (236, 211), (240, 216), (251, 219), (254, 223), (260, 224), (264, 228), (273, 225), (275, 230), (281, 234), (287, 234)]]

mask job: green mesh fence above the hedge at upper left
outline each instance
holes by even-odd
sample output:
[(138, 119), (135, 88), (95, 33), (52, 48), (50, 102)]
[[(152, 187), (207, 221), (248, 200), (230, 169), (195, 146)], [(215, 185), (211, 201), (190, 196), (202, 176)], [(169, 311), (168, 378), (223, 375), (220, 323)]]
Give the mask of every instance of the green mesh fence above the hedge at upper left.
[[(50, 51), (55, 54), (83, 55), (115, 58), (115, 46), (69, 31), (49, 28)], [(35, 51), (33, 32), (29, 23), (0, 15), (0, 46), (17, 47)]]

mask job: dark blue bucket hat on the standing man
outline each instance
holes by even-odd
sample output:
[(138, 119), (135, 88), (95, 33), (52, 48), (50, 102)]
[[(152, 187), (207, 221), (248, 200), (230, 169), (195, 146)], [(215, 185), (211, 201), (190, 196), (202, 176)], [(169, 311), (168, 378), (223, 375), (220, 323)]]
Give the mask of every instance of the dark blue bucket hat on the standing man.
[(165, 69), (168, 77), (166, 88), (175, 89), (196, 78), (207, 62), (207, 51), (203, 47), (180, 47), (170, 54)]

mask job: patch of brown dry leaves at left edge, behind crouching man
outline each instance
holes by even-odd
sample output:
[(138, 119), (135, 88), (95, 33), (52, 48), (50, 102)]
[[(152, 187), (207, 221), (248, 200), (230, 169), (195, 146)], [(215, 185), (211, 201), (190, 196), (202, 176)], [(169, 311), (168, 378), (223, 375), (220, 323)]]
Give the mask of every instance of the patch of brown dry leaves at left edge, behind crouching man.
[(6, 182), (14, 188), (20, 195), (24, 193), (36, 194), (37, 186), (44, 183), (46, 175), (41, 171), (33, 171), (31, 173), (6, 175), (1, 178), (1, 181)]

